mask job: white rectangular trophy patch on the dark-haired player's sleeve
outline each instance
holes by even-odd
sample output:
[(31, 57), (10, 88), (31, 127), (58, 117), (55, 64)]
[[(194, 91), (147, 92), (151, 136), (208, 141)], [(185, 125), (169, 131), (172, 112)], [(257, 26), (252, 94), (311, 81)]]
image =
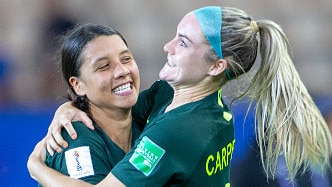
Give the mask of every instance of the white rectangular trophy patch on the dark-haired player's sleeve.
[(82, 178), (94, 175), (88, 146), (77, 147), (65, 152), (66, 165), (71, 178)]

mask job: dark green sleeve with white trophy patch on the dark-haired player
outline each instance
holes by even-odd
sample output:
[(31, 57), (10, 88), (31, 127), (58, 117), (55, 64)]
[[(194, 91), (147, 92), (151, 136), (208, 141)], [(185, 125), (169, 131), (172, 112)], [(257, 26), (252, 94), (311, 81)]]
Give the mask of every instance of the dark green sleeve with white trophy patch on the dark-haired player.
[(81, 122), (73, 122), (73, 126), (78, 134), (77, 139), (72, 140), (63, 130), (62, 136), (69, 147), (53, 156), (48, 154), (45, 163), (71, 178), (97, 184), (111, 170), (106, 157), (110, 153), (96, 131), (91, 131)]

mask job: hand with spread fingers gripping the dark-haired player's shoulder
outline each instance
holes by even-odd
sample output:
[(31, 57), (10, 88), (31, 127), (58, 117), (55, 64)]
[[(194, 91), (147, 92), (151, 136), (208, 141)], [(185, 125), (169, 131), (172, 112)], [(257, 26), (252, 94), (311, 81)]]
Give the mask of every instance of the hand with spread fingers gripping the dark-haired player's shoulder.
[(74, 107), (70, 102), (62, 104), (54, 114), (54, 118), (48, 128), (46, 139), (47, 151), (53, 155), (54, 150), (61, 152), (61, 147), (67, 148), (68, 143), (61, 136), (61, 129), (64, 127), (72, 139), (77, 138), (71, 122), (82, 121), (90, 129), (94, 129), (92, 121), (83, 111)]

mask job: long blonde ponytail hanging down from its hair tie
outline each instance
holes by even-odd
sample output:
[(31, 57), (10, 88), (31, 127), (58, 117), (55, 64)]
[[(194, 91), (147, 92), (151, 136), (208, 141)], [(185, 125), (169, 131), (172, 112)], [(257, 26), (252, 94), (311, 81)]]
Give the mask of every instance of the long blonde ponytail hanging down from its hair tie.
[(263, 166), (267, 174), (275, 173), (282, 153), (293, 180), (301, 167), (329, 165), (331, 134), (295, 69), (282, 29), (269, 20), (257, 24), (261, 64), (248, 93), (256, 101)]

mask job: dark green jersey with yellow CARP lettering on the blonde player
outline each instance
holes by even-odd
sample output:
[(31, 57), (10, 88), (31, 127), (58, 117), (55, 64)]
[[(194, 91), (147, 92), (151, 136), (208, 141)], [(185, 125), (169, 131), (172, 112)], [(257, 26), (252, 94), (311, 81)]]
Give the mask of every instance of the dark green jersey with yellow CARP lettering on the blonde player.
[(234, 126), (221, 90), (165, 112), (172, 95), (164, 81), (140, 95), (148, 123), (112, 173), (127, 186), (230, 186)]

